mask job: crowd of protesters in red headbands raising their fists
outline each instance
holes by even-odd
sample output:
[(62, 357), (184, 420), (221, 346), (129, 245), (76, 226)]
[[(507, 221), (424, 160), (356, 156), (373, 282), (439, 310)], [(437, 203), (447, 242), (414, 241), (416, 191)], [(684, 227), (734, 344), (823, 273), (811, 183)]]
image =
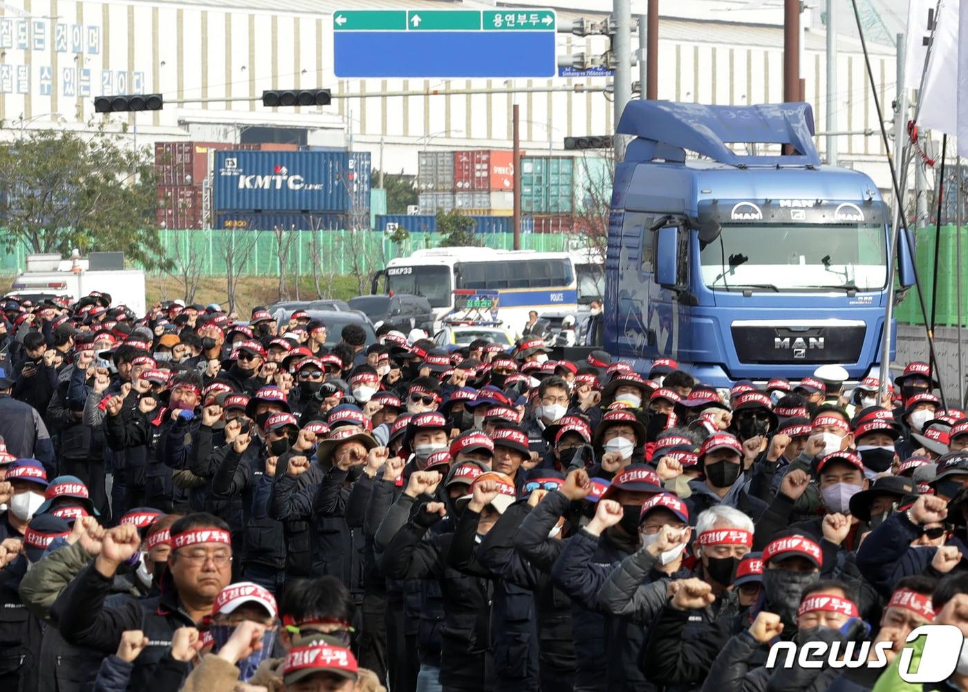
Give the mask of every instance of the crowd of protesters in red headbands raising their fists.
[(724, 391), (532, 336), (0, 310), (3, 692), (884, 692), (920, 625), (968, 637), (968, 417), (924, 363)]

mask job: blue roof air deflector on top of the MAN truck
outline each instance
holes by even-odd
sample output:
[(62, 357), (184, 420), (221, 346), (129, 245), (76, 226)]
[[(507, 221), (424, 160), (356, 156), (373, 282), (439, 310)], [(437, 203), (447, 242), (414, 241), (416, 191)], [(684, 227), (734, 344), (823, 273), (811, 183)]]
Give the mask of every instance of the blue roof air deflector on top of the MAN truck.
[[(625, 161), (684, 161), (694, 151), (727, 165), (820, 165), (809, 104), (701, 105), (630, 101), (617, 132), (639, 137)], [(728, 143), (789, 144), (797, 154), (744, 156)]]

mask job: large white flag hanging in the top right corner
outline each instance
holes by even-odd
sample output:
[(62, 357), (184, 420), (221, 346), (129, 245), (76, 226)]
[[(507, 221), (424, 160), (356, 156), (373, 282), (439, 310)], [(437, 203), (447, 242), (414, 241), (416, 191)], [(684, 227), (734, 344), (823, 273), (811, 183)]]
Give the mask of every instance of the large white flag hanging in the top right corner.
[(958, 5), (958, 0), (941, 0), (919, 97), (918, 125), (947, 135), (957, 132), (957, 99), (952, 97), (958, 88)]

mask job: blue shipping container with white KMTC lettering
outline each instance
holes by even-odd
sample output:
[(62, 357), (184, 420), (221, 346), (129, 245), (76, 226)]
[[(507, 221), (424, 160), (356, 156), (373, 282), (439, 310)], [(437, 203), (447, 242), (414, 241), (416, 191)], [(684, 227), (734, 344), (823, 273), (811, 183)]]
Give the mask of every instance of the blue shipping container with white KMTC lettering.
[(370, 206), (367, 152), (220, 151), (212, 178), (216, 211), (345, 213)]

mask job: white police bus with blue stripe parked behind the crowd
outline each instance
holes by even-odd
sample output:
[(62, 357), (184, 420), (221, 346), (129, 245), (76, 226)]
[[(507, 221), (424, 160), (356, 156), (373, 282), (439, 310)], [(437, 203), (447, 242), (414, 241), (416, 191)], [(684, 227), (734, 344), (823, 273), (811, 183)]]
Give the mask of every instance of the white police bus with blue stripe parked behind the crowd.
[(578, 310), (575, 264), (568, 253), (492, 248), (435, 248), (391, 259), (373, 279), (373, 292), (422, 295), (434, 310), (435, 329), (454, 309), (454, 290), (499, 291), (498, 319), (520, 334), (530, 311), (542, 317)]

